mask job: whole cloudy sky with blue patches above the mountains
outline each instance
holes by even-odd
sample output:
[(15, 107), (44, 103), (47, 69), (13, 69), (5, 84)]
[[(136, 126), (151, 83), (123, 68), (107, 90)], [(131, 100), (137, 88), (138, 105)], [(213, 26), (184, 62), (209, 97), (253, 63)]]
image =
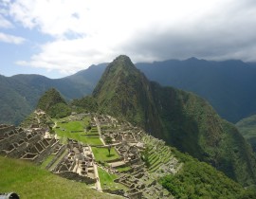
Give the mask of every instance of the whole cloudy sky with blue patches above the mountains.
[(0, 74), (60, 78), (119, 54), (256, 62), (255, 0), (0, 0)]

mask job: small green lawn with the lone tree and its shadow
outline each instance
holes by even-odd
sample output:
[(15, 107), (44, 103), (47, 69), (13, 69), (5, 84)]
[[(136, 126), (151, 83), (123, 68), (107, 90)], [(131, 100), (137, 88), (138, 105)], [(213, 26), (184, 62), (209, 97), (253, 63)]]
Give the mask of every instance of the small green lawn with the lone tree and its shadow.
[(119, 154), (116, 150), (112, 147), (110, 155), (108, 154), (107, 148), (97, 148), (92, 147), (93, 154), (95, 156), (96, 161), (107, 161), (119, 158)]

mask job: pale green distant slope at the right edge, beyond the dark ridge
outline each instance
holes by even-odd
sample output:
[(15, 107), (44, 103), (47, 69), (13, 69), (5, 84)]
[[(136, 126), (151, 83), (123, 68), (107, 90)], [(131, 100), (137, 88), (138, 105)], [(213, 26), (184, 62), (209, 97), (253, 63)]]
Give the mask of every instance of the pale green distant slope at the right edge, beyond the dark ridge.
[(236, 124), (239, 132), (247, 139), (250, 143), (254, 152), (256, 152), (256, 115), (248, 118), (243, 118)]

